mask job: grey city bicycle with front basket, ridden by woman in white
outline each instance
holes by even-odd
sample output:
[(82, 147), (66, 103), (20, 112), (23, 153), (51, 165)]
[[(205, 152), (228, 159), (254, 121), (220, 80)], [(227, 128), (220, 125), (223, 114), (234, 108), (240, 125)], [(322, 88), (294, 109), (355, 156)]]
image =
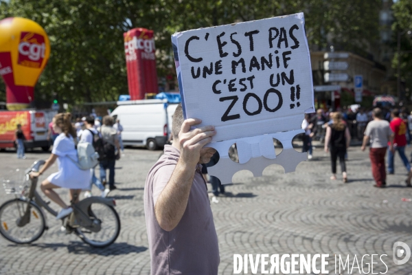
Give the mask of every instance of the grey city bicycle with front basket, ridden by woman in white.
[[(54, 217), (58, 214), (36, 191), (38, 179), (29, 177), (43, 164), (44, 160), (38, 160), (25, 170), (23, 185), (15, 186), (19, 182), (3, 179), (5, 192), (16, 197), (0, 206), (0, 234), (13, 243), (32, 243), (49, 229), (43, 208)], [(84, 243), (104, 248), (111, 245), (120, 232), (120, 219), (114, 206), (115, 199), (111, 198), (89, 197), (78, 203), (71, 201), (73, 212), (61, 219), (62, 227), (67, 234), (76, 234)]]

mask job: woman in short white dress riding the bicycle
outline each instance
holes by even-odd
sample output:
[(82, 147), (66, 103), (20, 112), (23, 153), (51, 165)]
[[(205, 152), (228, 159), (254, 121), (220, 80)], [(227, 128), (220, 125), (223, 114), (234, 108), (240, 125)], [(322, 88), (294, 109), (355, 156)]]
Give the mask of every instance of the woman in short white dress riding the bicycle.
[(71, 125), (71, 113), (58, 113), (55, 115), (53, 130), (59, 135), (54, 142), (52, 155), (43, 167), (38, 172), (31, 173), (30, 177), (38, 177), (45, 173), (47, 168), (52, 166), (57, 159), (58, 172), (49, 175), (41, 183), (41, 190), (49, 199), (62, 208), (56, 216), (56, 219), (62, 219), (73, 212), (73, 208), (67, 206), (65, 201), (53, 189), (70, 188), (70, 200), (77, 203), (81, 190), (89, 187), (90, 173), (89, 170), (80, 170), (74, 163), (78, 162), (78, 155), (73, 140), (73, 137), (76, 138), (76, 129)]

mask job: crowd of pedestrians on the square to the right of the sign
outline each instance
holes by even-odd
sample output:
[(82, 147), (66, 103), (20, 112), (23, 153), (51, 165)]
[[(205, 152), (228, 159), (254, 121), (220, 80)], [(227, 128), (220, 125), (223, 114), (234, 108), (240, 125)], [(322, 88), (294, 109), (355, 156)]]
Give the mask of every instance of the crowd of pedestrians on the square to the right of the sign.
[[(362, 142), (362, 151), (365, 151), (367, 144), (370, 143), (369, 158), (376, 181), (375, 187), (385, 188), (387, 173), (389, 175), (395, 173), (396, 152), (407, 169), (405, 183), (411, 186), (412, 170), (405, 155), (405, 147), (411, 142), (412, 112), (409, 114), (406, 109), (396, 108), (389, 110), (347, 107), (335, 112), (324, 112), (318, 109), (313, 115), (305, 115), (301, 128), (305, 131), (302, 138), (303, 151), (308, 152), (308, 159), (312, 159), (312, 139), (324, 141), (325, 152), (330, 152), (332, 164), (330, 179), (336, 179), (336, 161), (339, 158), (343, 182), (348, 182), (345, 164), (347, 148), (351, 140), (358, 140)], [(386, 153), (388, 153), (387, 165)]]

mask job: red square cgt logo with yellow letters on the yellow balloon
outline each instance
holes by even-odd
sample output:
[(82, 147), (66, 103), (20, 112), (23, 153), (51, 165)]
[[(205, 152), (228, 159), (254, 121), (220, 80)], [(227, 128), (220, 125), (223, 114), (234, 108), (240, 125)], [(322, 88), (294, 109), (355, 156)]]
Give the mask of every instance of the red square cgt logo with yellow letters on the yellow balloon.
[(45, 57), (45, 38), (33, 32), (21, 32), (18, 64), (25, 67), (41, 67)]

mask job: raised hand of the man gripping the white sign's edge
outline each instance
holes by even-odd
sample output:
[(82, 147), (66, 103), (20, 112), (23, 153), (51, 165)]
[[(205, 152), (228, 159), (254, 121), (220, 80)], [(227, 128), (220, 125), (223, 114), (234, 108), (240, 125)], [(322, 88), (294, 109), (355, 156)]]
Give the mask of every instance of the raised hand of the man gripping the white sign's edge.
[(179, 132), (181, 160), (191, 166), (196, 166), (201, 157), (201, 148), (211, 142), (211, 137), (216, 135), (214, 126), (211, 125), (190, 129), (201, 122), (198, 118), (189, 118), (183, 122)]

